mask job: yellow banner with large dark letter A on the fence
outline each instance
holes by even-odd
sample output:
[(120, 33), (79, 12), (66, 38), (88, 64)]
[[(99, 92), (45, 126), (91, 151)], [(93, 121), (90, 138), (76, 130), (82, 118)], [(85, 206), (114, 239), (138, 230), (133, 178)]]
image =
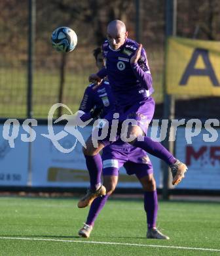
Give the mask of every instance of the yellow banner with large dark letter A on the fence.
[(220, 42), (170, 37), (167, 51), (169, 95), (220, 95)]

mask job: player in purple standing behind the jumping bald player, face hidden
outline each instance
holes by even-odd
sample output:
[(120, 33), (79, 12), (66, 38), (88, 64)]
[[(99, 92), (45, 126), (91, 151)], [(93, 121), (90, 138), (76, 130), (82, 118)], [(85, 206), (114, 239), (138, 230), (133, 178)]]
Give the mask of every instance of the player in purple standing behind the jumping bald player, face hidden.
[[(94, 51), (96, 66), (99, 70), (103, 67), (103, 55), (101, 48)], [(114, 100), (108, 81), (102, 81), (99, 87), (89, 85), (82, 98), (79, 110), (84, 114), (83, 121), (91, 117), (102, 117), (111, 110)], [(90, 206), (90, 211), (84, 226), (79, 230), (79, 236), (88, 238), (101, 209), (107, 198), (113, 193), (118, 182), (119, 169), (124, 165), (128, 175), (135, 174), (141, 182), (144, 191), (144, 209), (147, 215), (147, 238), (169, 239), (156, 228), (156, 217), (158, 201), (156, 194), (156, 182), (153, 177), (153, 166), (146, 152), (141, 148), (117, 140), (103, 148), (103, 185), (106, 188), (106, 195), (96, 198)]]

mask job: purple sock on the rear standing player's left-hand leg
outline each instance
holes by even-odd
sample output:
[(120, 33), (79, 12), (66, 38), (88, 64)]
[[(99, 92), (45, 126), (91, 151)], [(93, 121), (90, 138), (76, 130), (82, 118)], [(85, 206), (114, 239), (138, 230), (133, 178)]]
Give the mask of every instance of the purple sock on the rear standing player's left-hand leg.
[(105, 202), (109, 196), (100, 196), (96, 198), (93, 202), (92, 205), (90, 206), (90, 211), (88, 213), (88, 217), (86, 220), (86, 224), (88, 225), (94, 225), (94, 222), (96, 221), (96, 218), (98, 217), (98, 214), (100, 213), (101, 209), (105, 205)]

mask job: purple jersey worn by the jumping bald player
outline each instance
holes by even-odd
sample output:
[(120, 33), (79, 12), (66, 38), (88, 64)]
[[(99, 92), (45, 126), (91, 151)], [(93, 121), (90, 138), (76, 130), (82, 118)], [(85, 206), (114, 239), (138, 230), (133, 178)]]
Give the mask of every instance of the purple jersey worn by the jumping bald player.
[(98, 72), (98, 76), (103, 78), (107, 75), (113, 95), (123, 107), (145, 100), (153, 93), (151, 72), (143, 48), (138, 62), (130, 64), (138, 46), (131, 39), (126, 39), (117, 50), (111, 49), (108, 41), (103, 44), (105, 68)]

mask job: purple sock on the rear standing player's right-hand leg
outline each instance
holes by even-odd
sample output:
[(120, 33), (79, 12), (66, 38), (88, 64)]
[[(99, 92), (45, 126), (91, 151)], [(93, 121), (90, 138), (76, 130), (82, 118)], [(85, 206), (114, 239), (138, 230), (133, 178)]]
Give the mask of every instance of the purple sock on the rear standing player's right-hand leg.
[(155, 228), (158, 210), (156, 190), (144, 192), (144, 208), (147, 213), (147, 228)]

